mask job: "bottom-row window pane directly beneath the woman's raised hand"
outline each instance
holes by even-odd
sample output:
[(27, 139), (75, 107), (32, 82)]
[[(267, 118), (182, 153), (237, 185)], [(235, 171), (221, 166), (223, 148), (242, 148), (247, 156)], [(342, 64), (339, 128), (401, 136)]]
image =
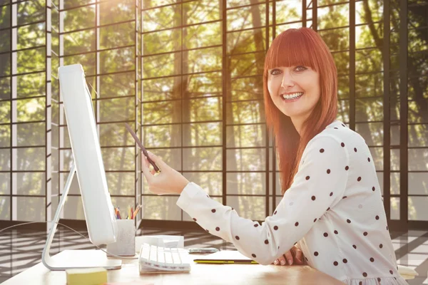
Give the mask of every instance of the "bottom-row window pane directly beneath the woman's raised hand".
[(181, 209), (177, 207), (178, 197), (143, 196), (141, 208), (143, 219), (181, 220)]

